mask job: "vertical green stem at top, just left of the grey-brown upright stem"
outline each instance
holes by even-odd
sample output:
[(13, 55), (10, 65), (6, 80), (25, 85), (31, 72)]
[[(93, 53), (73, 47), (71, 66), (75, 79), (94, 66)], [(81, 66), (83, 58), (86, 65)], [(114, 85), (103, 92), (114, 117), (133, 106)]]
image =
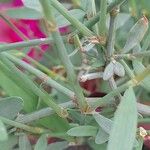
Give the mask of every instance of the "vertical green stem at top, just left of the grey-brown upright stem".
[(106, 36), (106, 15), (107, 15), (107, 0), (100, 2), (100, 19), (99, 19), (99, 35)]

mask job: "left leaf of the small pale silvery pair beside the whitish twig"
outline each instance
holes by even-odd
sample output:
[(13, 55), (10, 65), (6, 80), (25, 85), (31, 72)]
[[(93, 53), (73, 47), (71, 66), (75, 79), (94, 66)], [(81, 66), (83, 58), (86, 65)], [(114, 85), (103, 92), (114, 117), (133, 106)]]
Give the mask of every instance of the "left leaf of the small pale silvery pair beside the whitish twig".
[(113, 74), (114, 74), (114, 64), (113, 62), (110, 62), (104, 70), (103, 80), (110, 79), (113, 76)]

